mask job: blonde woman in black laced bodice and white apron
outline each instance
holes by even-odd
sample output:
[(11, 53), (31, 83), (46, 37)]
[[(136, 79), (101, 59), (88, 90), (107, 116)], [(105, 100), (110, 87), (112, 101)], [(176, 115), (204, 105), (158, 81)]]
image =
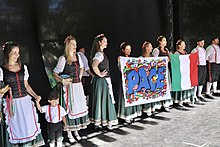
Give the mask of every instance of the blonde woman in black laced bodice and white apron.
[(88, 118), (88, 107), (86, 97), (81, 83), (83, 63), (76, 53), (76, 38), (67, 36), (65, 39), (65, 53), (59, 57), (56, 67), (53, 70), (54, 78), (62, 83), (63, 99), (62, 106), (66, 110), (67, 137), (71, 143), (75, 142), (72, 131), (77, 140), (81, 137), (78, 134), (80, 129), (85, 129), (90, 123)]

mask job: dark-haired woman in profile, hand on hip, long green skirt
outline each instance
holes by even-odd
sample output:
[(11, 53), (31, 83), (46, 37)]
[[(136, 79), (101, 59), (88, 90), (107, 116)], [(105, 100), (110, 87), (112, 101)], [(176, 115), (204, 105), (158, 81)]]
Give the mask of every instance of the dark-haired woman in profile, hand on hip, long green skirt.
[(91, 51), (92, 69), (95, 76), (92, 79), (92, 91), (89, 97), (89, 118), (96, 127), (107, 126), (113, 129), (118, 124), (115, 112), (115, 100), (109, 72), (109, 60), (104, 53), (107, 47), (104, 34), (95, 37)]

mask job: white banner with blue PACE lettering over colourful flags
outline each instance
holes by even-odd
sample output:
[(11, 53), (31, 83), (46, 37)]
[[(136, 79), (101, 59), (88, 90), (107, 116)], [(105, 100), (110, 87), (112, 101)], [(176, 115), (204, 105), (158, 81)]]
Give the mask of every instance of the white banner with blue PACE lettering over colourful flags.
[(171, 99), (167, 60), (120, 58), (125, 107)]

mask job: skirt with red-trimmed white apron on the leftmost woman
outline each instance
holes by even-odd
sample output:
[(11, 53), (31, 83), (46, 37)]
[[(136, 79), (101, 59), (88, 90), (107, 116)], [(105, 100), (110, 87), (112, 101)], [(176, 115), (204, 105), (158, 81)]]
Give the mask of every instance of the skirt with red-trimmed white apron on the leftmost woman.
[(44, 145), (36, 108), (29, 95), (14, 98), (12, 101), (3, 99), (2, 108), (4, 112), (0, 126), (2, 147), (16, 144), (23, 147)]

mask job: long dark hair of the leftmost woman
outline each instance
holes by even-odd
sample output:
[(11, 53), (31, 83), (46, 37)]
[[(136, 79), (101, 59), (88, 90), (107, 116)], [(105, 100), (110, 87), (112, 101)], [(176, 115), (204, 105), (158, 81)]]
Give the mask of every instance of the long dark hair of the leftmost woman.
[[(18, 45), (16, 43), (12, 42), (12, 41), (7, 41), (3, 45), (2, 50), (3, 50), (3, 53), (4, 53), (4, 65), (6, 67), (8, 67), (8, 64), (9, 64), (9, 54), (12, 51), (12, 49), (15, 48), (15, 47), (18, 47)], [(21, 65), (20, 57), (18, 57), (17, 63), (19, 65)]]

